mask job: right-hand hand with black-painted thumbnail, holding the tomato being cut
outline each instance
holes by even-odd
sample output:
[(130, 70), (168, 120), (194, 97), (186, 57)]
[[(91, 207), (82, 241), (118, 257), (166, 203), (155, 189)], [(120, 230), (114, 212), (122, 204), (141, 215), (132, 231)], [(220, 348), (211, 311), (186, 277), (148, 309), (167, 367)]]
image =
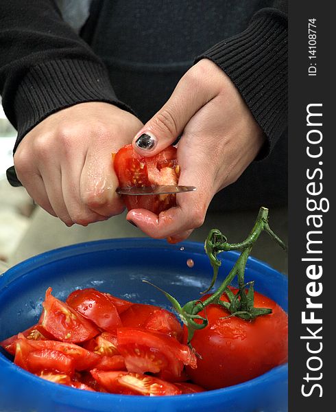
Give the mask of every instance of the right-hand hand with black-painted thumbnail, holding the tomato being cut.
[(127, 216), (147, 235), (173, 242), (203, 224), (213, 196), (239, 178), (265, 139), (230, 78), (206, 59), (187, 71), (163, 108), (137, 133), (134, 150), (152, 157), (181, 134), (178, 184), (197, 190), (178, 194), (177, 206), (158, 216), (145, 209), (132, 209)]

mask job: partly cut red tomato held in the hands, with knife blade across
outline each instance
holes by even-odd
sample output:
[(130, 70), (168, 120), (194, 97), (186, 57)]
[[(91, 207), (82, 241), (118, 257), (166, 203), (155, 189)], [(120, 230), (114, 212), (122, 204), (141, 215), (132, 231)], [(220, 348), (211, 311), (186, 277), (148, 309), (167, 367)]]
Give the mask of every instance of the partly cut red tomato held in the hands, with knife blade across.
[[(180, 168), (176, 158), (176, 148), (173, 146), (169, 146), (154, 157), (142, 157), (129, 144), (117, 152), (113, 162), (121, 187), (177, 185)], [(128, 210), (140, 208), (160, 214), (161, 211), (176, 206), (176, 195), (123, 195), (123, 201)]]

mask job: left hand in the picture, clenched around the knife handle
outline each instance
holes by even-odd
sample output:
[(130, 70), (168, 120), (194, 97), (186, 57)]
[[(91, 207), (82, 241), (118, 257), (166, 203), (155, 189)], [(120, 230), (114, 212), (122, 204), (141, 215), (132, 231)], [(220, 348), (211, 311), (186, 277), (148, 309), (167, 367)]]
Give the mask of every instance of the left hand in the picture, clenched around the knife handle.
[(117, 106), (87, 102), (64, 108), (35, 126), (14, 155), (27, 192), (67, 226), (86, 226), (120, 214), (111, 153), (143, 126)]

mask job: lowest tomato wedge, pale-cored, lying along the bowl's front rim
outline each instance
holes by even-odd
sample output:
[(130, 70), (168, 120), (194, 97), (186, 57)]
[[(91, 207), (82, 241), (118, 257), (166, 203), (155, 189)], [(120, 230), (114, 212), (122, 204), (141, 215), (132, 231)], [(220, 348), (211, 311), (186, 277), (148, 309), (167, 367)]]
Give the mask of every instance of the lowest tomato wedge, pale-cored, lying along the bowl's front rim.
[(99, 369), (93, 369), (91, 374), (101, 386), (111, 393), (143, 396), (180, 395), (181, 393), (176, 385), (154, 376), (125, 371), (100, 371)]

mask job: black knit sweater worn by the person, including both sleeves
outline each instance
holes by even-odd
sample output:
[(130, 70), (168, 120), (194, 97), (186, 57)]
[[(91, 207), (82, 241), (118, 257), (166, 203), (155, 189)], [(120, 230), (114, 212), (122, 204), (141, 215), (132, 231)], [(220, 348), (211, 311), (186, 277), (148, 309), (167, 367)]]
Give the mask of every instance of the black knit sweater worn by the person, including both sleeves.
[(79, 102), (117, 104), (146, 122), (193, 62), (213, 60), (267, 136), (259, 155), (267, 159), (217, 195), (217, 205), (286, 202), (285, 1), (93, 0), (77, 34), (52, 0), (0, 0), (0, 48), (3, 108), (18, 130), (14, 150), (38, 122)]

